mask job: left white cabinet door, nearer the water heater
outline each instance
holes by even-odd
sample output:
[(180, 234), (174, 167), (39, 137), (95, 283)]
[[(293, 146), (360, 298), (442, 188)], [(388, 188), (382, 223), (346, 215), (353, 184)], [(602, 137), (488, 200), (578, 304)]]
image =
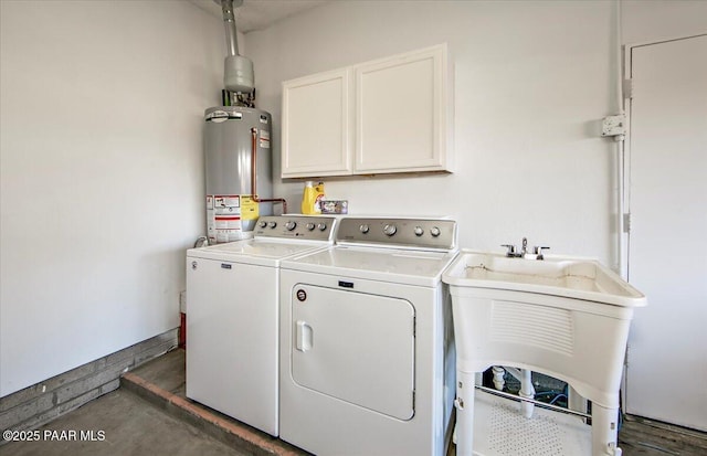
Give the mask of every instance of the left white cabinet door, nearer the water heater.
[(283, 83), (282, 177), (351, 173), (348, 70)]

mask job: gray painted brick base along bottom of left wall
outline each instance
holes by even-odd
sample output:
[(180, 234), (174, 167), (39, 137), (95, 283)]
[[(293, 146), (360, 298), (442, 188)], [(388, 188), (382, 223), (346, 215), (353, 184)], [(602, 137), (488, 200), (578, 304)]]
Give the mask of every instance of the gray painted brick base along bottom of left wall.
[(178, 329), (169, 330), (0, 397), (0, 430), (36, 428), (116, 390), (123, 372), (176, 348), (178, 337)]

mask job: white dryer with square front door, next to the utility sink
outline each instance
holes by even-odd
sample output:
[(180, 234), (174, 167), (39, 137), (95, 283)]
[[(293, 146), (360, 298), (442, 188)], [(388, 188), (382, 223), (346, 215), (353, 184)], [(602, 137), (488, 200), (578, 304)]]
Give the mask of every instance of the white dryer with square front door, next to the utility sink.
[(317, 455), (444, 455), (456, 223), (345, 218), (336, 244), (281, 266), (281, 438)]

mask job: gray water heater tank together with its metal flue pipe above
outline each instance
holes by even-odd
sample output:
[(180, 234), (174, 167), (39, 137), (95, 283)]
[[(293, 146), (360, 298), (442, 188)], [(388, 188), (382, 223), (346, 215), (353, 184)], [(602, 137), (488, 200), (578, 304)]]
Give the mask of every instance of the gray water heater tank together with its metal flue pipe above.
[(209, 244), (253, 236), (255, 221), (273, 214), (272, 119), (255, 108), (253, 62), (239, 54), (235, 8), (243, 0), (213, 0), (221, 6), (228, 55), (223, 66), (223, 104), (204, 113), (207, 237)]

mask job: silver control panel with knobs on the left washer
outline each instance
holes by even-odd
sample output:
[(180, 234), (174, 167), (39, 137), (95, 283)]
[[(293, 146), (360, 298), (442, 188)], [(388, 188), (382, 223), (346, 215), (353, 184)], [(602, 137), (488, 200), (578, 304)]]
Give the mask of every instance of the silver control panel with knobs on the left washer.
[(333, 241), (336, 218), (305, 215), (264, 215), (255, 223), (255, 237)]

